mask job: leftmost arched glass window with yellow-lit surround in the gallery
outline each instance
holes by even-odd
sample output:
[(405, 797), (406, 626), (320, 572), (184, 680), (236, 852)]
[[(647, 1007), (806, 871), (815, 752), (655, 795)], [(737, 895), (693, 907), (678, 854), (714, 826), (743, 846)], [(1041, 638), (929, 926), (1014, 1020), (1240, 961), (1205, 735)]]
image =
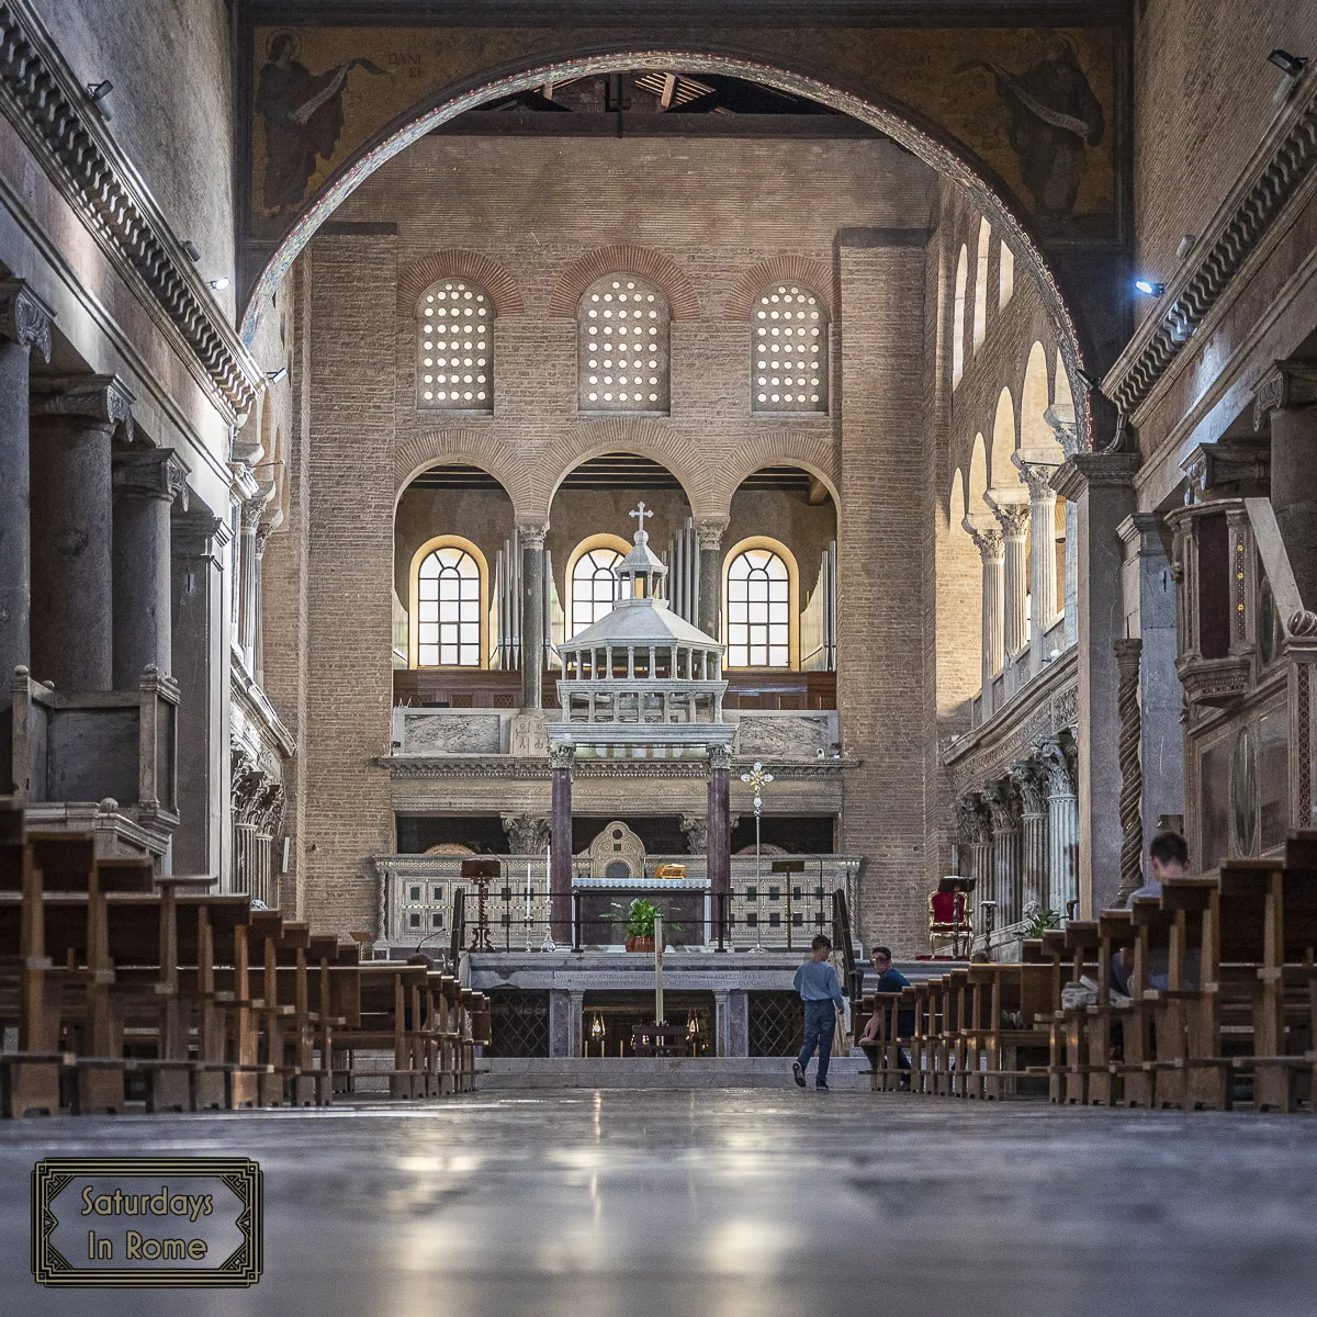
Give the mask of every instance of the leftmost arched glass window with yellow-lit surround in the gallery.
[(456, 535), (417, 549), (412, 558), (414, 666), (485, 666), (487, 576), (481, 551)]

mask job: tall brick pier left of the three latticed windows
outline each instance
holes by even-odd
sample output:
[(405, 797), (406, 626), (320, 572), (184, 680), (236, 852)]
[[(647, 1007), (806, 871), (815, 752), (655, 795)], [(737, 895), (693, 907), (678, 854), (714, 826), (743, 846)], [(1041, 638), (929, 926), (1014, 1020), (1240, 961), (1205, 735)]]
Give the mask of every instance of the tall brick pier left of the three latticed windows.
[[(306, 915), (375, 926), (369, 856), (392, 849), (394, 348), (396, 261), (389, 238), (311, 248), (307, 552)], [(269, 644), (267, 639), (267, 644)]]

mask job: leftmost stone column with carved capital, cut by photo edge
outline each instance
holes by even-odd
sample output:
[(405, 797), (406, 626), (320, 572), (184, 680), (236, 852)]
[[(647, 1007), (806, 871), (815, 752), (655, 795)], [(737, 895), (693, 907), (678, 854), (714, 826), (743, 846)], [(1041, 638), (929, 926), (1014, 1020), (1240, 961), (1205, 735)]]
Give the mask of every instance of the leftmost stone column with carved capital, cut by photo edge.
[(29, 354), (50, 361), (53, 319), (21, 279), (0, 282), (0, 795), (13, 789), (13, 670), (32, 666)]

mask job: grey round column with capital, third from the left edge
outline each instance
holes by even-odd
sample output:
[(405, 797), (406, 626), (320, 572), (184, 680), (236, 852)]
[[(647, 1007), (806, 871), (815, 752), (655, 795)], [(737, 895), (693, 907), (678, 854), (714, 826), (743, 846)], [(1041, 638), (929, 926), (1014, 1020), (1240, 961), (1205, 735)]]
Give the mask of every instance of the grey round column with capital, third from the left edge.
[(115, 690), (136, 690), (142, 669), (173, 669), (170, 508), (187, 471), (167, 448), (116, 453)]

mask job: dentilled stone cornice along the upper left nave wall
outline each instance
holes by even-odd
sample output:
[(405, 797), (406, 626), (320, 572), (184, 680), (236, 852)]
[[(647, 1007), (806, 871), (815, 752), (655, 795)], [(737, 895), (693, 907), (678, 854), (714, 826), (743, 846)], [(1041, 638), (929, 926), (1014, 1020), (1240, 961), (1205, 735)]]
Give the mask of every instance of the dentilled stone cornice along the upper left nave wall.
[(0, 3), (0, 112), (230, 423), (265, 381), (30, 3)]

